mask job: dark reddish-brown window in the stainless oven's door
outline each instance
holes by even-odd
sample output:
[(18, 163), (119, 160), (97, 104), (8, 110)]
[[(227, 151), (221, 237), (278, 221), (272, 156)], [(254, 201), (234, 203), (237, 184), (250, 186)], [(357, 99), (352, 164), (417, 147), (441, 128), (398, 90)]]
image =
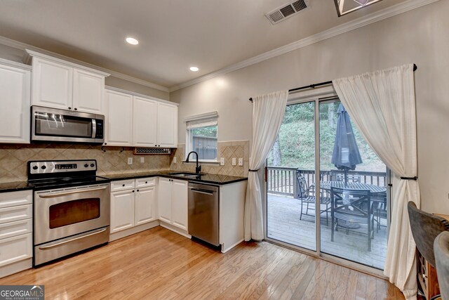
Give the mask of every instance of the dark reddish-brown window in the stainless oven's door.
[(80, 199), (50, 207), (50, 228), (58, 228), (100, 217), (100, 198)]

